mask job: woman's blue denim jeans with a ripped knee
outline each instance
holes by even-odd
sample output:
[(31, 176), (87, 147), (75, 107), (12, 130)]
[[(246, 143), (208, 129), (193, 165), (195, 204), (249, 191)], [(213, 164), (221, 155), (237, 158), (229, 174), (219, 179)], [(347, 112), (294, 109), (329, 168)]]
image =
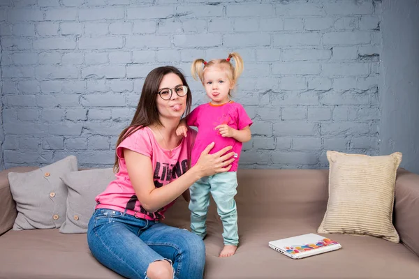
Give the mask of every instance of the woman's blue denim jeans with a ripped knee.
[(87, 243), (98, 262), (126, 278), (147, 278), (149, 264), (163, 259), (172, 262), (174, 278), (203, 278), (204, 242), (186, 229), (96, 209)]

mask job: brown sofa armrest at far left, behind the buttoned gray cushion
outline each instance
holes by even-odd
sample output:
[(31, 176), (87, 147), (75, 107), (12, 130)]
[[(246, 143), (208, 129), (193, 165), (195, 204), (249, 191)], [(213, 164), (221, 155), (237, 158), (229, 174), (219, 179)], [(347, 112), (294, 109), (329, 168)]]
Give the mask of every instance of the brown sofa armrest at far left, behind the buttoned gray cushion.
[(9, 172), (30, 172), (38, 167), (12, 167), (0, 172), (0, 235), (13, 227), (17, 216), (16, 204), (10, 193)]

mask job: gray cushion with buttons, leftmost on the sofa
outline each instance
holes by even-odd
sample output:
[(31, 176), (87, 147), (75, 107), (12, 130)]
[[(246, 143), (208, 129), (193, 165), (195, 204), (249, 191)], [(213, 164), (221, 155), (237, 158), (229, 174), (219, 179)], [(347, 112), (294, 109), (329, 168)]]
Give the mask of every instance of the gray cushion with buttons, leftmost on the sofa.
[(77, 158), (68, 156), (31, 172), (9, 172), (10, 192), (17, 209), (13, 229), (61, 227), (66, 214), (68, 191), (60, 176), (77, 169)]

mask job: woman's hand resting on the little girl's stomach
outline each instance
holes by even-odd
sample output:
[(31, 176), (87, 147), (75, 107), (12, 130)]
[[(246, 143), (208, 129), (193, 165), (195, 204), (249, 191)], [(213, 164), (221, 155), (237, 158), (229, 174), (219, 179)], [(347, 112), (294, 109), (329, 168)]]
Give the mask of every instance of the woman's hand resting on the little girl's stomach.
[(234, 158), (231, 158), (234, 156), (234, 152), (227, 153), (233, 149), (233, 146), (224, 147), (220, 151), (210, 154), (214, 144), (214, 142), (208, 144), (200, 154), (198, 162), (195, 165), (200, 172), (200, 177), (218, 174), (219, 172), (228, 172), (231, 168), (231, 163), (234, 162)]

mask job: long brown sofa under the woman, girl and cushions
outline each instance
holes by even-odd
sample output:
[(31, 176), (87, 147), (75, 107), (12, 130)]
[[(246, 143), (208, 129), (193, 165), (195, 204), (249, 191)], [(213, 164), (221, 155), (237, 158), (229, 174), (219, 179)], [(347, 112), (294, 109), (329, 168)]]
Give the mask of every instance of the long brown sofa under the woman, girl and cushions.
[[(34, 169), (0, 172), (0, 278), (121, 278), (92, 257), (86, 234), (12, 229), (17, 211), (7, 174)], [(205, 278), (419, 278), (418, 174), (397, 171), (393, 221), (400, 243), (374, 236), (322, 234), (339, 241), (342, 248), (304, 259), (281, 255), (268, 242), (317, 233), (328, 203), (328, 169), (239, 169), (237, 176), (240, 246), (232, 257), (218, 257), (222, 226), (211, 201)], [(182, 197), (163, 222), (189, 228)]]

